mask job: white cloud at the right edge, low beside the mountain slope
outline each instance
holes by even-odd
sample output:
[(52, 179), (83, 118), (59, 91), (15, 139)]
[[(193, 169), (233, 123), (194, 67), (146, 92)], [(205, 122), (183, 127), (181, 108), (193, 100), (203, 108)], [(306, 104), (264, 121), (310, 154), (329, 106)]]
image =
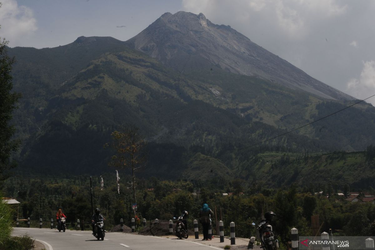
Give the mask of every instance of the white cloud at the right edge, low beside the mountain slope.
[[(363, 62), (363, 69), (359, 79), (352, 78), (347, 83), (347, 91), (358, 99), (365, 99), (375, 94), (375, 61)], [(375, 105), (374, 97), (369, 99)]]

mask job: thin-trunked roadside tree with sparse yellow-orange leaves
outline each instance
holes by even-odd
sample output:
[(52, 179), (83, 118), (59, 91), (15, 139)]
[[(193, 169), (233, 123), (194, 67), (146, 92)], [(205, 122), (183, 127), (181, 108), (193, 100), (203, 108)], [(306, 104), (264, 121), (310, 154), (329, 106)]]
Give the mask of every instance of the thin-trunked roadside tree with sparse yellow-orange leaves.
[(111, 147), (115, 149), (116, 154), (111, 157), (109, 165), (132, 170), (133, 198), (136, 203), (135, 172), (146, 162), (145, 145), (147, 142), (139, 134), (139, 128), (135, 126), (129, 126), (123, 132), (115, 130), (111, 136)]

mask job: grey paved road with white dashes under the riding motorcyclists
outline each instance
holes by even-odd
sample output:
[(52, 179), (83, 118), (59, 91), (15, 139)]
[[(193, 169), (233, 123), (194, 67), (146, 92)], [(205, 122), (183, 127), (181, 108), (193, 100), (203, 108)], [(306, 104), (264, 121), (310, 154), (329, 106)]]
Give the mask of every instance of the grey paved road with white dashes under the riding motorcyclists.
[(46, 250), (210, 250), (218, 247), (206, 246), (198, 242), (171, 240), (154, 236), (109, 233), (104, 241), (96, 240), (90, 231), (58, 232), (54, 229), (13, 228), (13, 235), (28, 234), (41, 241)]

